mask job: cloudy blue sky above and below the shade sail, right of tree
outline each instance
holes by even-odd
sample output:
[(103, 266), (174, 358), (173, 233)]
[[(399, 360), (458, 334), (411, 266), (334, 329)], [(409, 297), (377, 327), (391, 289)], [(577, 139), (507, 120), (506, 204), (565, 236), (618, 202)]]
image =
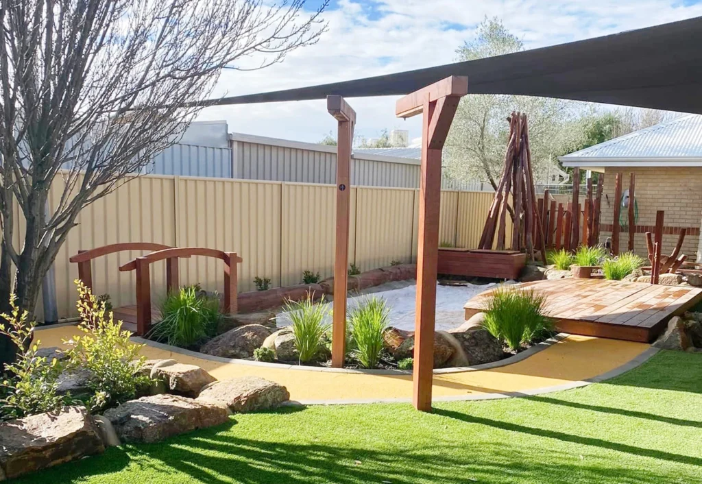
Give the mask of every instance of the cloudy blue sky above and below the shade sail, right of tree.
[[(307, 0), (309, 11), (322, 0)], [(600, 37), (702, 15), (702, 0), (331, 0), (328, 30), (263, 70), (225, 70), (213, 97), (276, 91), (390, 74), (454, 62), (487, 17), (503, 21), (526, 48)], [(256, 62), (247, 59), (244, 62)], [(356, 134), (383, 129), (421, 135), (420, 117), (395, 117), (397, 96), (349, 98)], [(316, 143), (336, 136), (326, 101), (209, 107), (198, 120), (226, 120), (230, 132)]]

